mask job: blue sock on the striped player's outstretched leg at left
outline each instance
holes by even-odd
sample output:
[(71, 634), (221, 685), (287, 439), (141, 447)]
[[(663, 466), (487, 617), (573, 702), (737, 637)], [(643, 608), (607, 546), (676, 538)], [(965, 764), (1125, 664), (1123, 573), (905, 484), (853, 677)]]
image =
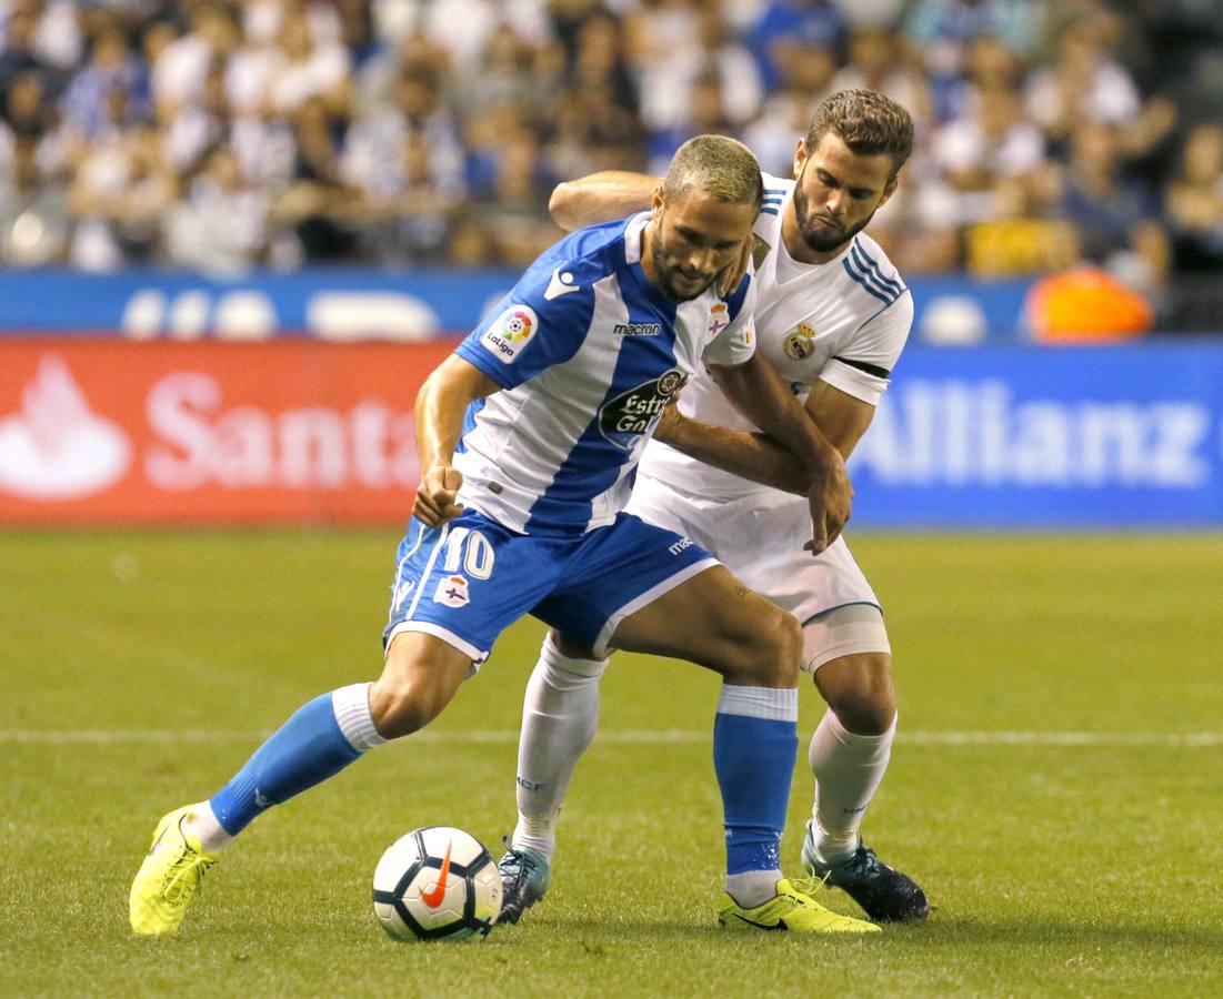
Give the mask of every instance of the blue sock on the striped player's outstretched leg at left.
[(340, 730), (324, 693), (303, 704), (210, 800), (231, 836), (273, 805), (313, 787), (361, 756)]

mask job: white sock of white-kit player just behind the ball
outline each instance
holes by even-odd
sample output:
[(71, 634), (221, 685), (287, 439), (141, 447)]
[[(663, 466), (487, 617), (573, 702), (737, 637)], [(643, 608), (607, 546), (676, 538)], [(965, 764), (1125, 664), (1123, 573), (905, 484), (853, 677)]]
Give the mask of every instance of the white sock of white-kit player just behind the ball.
[(549, 858), (556, 849), (556, 818), (577, 761), (599, 721), (599, 677), (607, 659), (570, 659), (549, 633), (522, 699), (519, 736), (519, 824), (515, 846)]

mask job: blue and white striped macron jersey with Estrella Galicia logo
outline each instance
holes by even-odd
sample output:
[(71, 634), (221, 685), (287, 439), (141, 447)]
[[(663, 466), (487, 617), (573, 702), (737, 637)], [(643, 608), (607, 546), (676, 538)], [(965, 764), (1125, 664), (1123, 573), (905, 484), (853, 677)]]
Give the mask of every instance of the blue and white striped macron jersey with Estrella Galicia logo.
[(612, 523), (671, 395), (756, 348), (753, 282), (673, 302), (646, 279), (649, 213), (570, 234), (456, 348), (503, 391), (467, 413), (460, 501), (526, 534)]

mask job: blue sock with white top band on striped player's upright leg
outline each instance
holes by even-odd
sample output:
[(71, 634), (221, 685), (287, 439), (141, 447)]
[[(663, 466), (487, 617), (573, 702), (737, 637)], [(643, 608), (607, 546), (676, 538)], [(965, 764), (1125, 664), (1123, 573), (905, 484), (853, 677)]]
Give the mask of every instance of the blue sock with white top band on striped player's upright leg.
[(780, 868), (797, 717), (797, 690), (722, 687), (713, 767), (725, 813), (728, 874)]

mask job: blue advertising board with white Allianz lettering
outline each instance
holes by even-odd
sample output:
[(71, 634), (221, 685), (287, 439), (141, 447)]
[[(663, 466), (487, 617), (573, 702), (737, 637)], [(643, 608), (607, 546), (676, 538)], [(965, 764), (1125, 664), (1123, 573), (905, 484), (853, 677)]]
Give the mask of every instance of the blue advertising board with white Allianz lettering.
[(850, 470), (855, 527), (1223, 526), (1223, 344), (911, 347)]

